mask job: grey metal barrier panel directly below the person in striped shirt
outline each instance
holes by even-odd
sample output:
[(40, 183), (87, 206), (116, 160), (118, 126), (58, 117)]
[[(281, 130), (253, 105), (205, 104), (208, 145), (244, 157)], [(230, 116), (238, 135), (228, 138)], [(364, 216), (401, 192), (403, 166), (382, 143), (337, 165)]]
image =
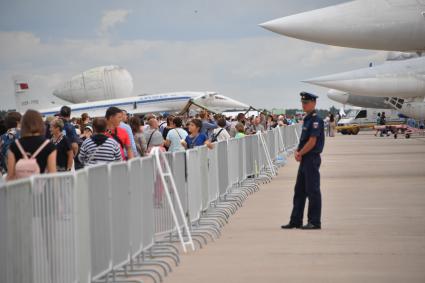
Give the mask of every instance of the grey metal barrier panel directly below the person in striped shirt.
[(93, 279), (112, 270), (112, 227), (108, 165), (88, 169), (90, 242)]

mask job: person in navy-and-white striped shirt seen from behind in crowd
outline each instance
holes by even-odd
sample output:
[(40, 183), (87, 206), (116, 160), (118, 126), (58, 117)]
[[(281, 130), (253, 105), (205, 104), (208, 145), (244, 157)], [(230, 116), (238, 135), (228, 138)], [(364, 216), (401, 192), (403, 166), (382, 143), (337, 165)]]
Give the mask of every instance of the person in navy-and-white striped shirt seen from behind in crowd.
[(106, 129), (105, 118), (93, 120), (94, 134), (83, 142), (78, 155), (78, 159), (84, 166), (122, 160), (120, 145), (105, 135)]

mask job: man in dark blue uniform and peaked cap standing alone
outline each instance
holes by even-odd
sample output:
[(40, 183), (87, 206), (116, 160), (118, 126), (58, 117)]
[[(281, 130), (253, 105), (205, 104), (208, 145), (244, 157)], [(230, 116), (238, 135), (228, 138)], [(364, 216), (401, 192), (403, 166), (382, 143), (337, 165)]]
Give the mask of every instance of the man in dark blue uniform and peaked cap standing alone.
[[(320, 193), (320, 154), (325, 143), (324, 123), (316, 113), (317, 96), (302, 92), (301, 102), (306, 113), (295, 160), (300, 162), (295, 184), (294, 207), (289, 224), (282, 229), (321, 229), (322, 197)], [(303, 226), (304, 206), (308, 198), (308, 222)]]

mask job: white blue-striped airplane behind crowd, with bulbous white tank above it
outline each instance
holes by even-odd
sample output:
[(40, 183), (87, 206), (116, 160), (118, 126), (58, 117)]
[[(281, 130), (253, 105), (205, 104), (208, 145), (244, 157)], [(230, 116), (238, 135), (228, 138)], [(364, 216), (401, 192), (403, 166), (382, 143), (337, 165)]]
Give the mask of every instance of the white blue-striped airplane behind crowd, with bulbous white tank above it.
[[(15, 102), (18, 112), (36, 109), (45, 116), (59, 112), (62, 105), (72, 109), (74, 117), (88, 113), (92, 117), (104, 116), (106, 109), (116, 106), (132, 114), (180, 112), (188, 104), (205, 107), (214, 112), (246, 110), (250, 107), (216, 92), (171, 92), (152, 95), (130, 96), (133, 81), (130, 73), (118, 66), (103, 66), (90, 69), (63, 83), (45, 94), (29, 77), (16, 76)], [(37, 87), (35, 87), (37, 88)], [(42, 94), (41, 94), (42, 93)]]

